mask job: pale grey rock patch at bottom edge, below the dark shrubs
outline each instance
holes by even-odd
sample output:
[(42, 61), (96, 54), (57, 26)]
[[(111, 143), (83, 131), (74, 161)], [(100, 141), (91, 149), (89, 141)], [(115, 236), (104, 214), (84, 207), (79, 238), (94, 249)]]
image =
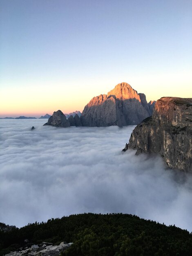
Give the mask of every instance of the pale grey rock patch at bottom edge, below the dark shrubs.
[(30, 248), (20, 248), (20, 251), (5, 254), (5, 256), (59, 256), (61, 252), (65, 251), (72, 243), (60, 243), (60, 245), (50, 245), (50, 243), (43, 242), (40, 245), (32, 245)]

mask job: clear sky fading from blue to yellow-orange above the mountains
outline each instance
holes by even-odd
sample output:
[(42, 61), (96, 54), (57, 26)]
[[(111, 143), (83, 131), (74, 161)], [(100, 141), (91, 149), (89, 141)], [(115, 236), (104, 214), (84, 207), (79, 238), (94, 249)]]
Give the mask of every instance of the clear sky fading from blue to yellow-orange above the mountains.
[(0, 0), (0, 117), (82, 111), (121, 82), (192, 97), (192, 0)]

